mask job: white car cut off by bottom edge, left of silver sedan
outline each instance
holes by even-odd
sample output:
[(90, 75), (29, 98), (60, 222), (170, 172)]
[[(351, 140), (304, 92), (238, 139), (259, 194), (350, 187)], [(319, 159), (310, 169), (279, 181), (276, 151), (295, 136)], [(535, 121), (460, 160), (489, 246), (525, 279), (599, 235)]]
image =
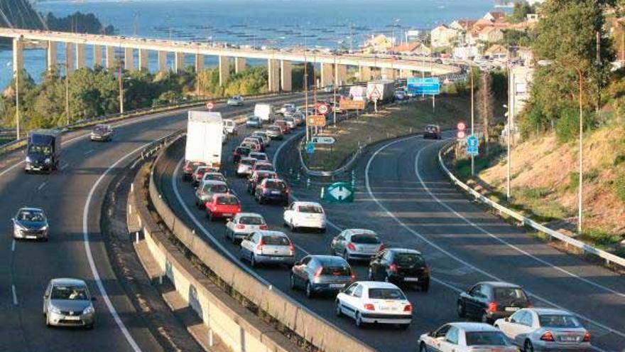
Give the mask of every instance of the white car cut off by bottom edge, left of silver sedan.
[(518, 352), (504, 333), (485, 323), (448, 323), (421, 335), (418, 344), (419, 352)]

